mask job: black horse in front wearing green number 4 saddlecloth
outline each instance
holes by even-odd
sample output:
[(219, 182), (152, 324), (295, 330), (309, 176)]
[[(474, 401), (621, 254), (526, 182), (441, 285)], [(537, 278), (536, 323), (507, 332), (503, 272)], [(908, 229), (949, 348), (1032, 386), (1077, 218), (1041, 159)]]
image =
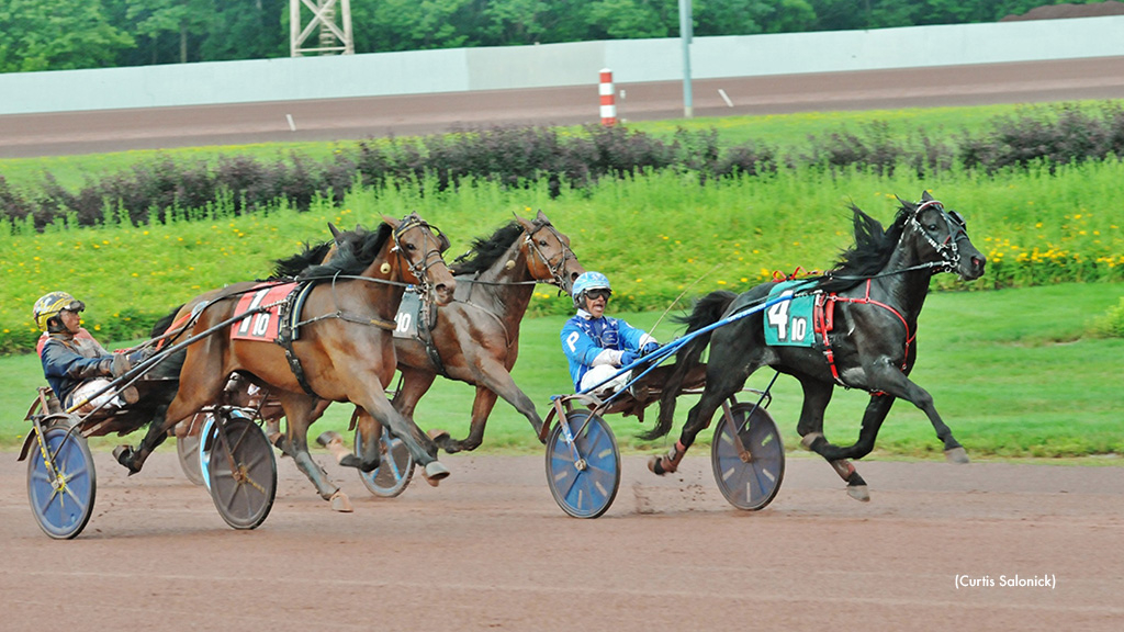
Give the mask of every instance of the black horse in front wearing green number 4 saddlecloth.
[[(870, 453), (886, 415), (899, 397), (925, 412), (950, 461), (968, 462), (964, 449), (936, 413), (932, 396), (908, 376), (917, 359), (917, 316), (932, 276), (948, 271), (966, 280), (978, 279), (987, 260), (969, 241), (963, 218), (955, 211), (946, 211), (927, 192), (918, 204), (898, 201), (901, 208), (886, 231), (852, 205), (854, 246), (842, 253), (831, 272), (789, 286), (795, 296), (807, 296), (810, 298), (806, 300), (814, 301), (809, 308), (812, 322), (792, 323), (807, 326), (806, 332), (799, 333), (807, 334), (813, 344), (781, 346), (776, 340), (767, 343), (767, 327), (783, 328), (788, 324), (783, 319), (787, 309), (778, 307), (787, 304), (777, 303), (769, 310), (699, 334), (680, 350), (674, 371), (663, 388), (659, 424), (645, 437), (663, 436), (671, 430), (679, 383), (692, 368), (698, 369), (703, 350), (709, 344), (706, 390), (688, 414), (679, 442), (667, 455), (650, 461), (653, 472), (676, 471), (695, 436), (709, 425), (716, 408), (764, 365), (800, 381), (804, 407), (797, 431), (801, 443), (832, 463), (846, 480), (847, 493), (856, 499), (868, 500), (870, 496), (865, 481), (846, 459), (861, 459)], [(776, 283), (769, 282), (741, 296), (713, 292), (697, 300), (692, 314), (680, 320), (687, 323), (689, 334), (723, 317), (761, 306), (773, 288)], [(871, 392), (859, 440), (853, 445), (834, 445), (823, 434), (824, 409), (835, 386)]]

